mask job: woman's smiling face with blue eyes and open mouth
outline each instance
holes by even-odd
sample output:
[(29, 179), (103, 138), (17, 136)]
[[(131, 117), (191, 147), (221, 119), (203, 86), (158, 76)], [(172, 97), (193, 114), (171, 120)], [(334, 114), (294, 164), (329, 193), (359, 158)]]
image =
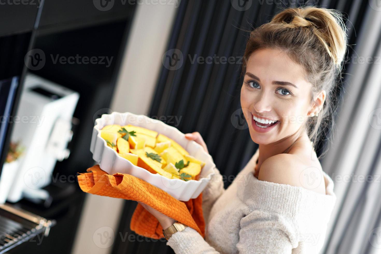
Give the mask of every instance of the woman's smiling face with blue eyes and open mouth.
[[(271, 144), (303, 129), (308, 114), (317, 112), (312, 108), (311, 88), (304, 80), (303, 67), (282, 51), (254, 51), (241, 88), (241, 107), (251, 139), (257, 144)], [(260, 123), (254, 118), (276, 122)]]

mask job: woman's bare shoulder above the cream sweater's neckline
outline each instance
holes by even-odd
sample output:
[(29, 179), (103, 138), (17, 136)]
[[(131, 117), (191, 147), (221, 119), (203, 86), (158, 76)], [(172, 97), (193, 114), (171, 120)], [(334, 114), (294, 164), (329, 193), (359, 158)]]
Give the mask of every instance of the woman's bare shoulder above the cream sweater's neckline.
[(280, 153), (267, 158), (261, 165), (258, 180), (303, 187), (325, 193), (325, 182), (318, 160), (294, 153)]

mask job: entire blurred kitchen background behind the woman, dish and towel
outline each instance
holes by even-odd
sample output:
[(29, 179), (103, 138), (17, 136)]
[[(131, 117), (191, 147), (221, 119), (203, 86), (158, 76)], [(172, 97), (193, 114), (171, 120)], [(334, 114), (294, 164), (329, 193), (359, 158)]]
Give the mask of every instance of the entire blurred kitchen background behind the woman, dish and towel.
[(199, 131), (235, 176), (258, 147), (240, 109), (247, 31), (301, 5), (341, 11), (350, 45), (333, 138), (317, 148), (337, 195), (322, 253), (381, 253), (380, 0), (1, 1), (0, 253), (173, 253), (130, 230), (135, 201), (78, 187), (94, 120)]

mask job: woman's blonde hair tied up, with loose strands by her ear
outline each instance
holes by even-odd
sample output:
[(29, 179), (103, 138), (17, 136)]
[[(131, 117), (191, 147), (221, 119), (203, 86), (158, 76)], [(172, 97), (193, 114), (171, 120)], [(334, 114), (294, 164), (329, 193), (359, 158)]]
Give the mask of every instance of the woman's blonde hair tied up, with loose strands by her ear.
[(242, 74), (246, 72), (251, 53), (263, 48), (282, 50), (303, 66), (304, 77), (312, 84), (311, 103), (320, 91), (324, 89), (327, 92), (319, 116), (307, 120), (308, 135), (315, 147), (322, 137), (330, 136), (326, 132), (334, 124), (338, 104), (335, 90), (341, 81), (342, 63), (347, 51), (342, 15), (337, 10), (314, 6), (282, 10), (271, 22), (250, 32), (243, 55)]

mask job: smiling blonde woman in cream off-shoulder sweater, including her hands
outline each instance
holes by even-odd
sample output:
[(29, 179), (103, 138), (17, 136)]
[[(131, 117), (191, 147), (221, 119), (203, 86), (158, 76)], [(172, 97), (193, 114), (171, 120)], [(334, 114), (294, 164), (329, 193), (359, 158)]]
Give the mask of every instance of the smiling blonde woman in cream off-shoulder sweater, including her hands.
[[(205, 240), (193, 228), (170, 235), (176, 253), (318, 253), (336, 196), (314, 146), (327, 123), (346, 53), (335, 10), (288, 8), (253, 30), (244, 53), (241, 106), (259, 149), (224, 190), (203, 191)], [(328, 126), (331, 127), (331, 126)], [(199, 133), (186, 134), (203, 145)], [(164, 229), (175, 221), (142, 204)]]

